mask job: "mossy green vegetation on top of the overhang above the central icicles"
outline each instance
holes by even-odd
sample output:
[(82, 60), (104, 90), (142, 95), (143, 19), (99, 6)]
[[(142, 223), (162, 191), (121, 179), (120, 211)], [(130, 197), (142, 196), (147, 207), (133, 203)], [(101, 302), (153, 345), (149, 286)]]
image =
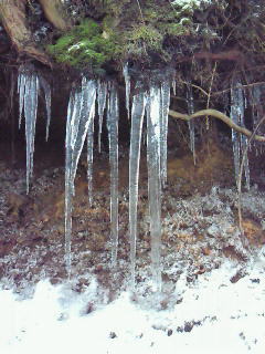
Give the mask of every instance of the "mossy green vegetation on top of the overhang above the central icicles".
[[(95, 18), (100, 19), (100, 25), (94, 20), (84, 20), (49, 45), (47, 51), (57, 62), (94, 72), (110, 62), (117, 69), (128, 59), (148, 65), (159, 60), (169, 62), (181, 38), (182, 43), (187, 38), (199, 38), (194, 10), (203, 12), (204, 9), (197, 9), (195, 1), (187, 6), (186, 2), (145, 0), (139, 2), (140, 8), (131, 0), (88, 0), (88, 3), (89, 11), (95, 9)], [(203, 29), (201, 24), (200, 31)]]

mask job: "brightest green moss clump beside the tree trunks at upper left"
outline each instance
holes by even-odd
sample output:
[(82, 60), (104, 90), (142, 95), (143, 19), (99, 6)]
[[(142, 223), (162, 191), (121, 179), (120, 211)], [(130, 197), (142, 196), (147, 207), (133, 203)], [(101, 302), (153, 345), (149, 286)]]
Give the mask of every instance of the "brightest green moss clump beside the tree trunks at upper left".
[(46, 49), (60, 63), (94, 72), (110, 61), (117, 50), (114, 38), (104, 38), (102, 28), (93, 20), (83, 21)]

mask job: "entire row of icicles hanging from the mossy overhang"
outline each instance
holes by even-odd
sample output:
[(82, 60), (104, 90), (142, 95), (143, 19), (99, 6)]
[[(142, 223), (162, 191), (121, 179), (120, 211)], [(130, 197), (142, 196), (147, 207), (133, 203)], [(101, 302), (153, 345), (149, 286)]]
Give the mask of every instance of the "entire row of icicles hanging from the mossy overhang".
[[(148, 164), (148, 197), (151, 235), (151, 269), (153, 287), (161, 289), (161, 190), (167, 183), (167, 135), (168, 112), (170, 104), (170, 90), (176, 93), (176, 82), (172, 74), (165, 75), (162, 82), (157, 82), (150, 75), (149, 84), (141, 80), (135, 82), (131, 94), (131, 82), (128, 65), (124, 67), (126, 84), (126, 108), (130, 117), (130, 152), (129, 152), (129, 241), (131, 264), (131, 288), (135, 289), (136, 273), (136, 244), (137, 244), (137, 207), (138, 179), (141, 150), (141, 135), (144, 119), (147, 119), (147, 164)], [(44, 91), (47, 121), (46, 139), (51, 119), (51, 88), (47, 82), (34, 70), (32, 65), (22, 65), (18, 76), (18, 92), (20, 103), (21, 125), (22, 115), (25, 119), (26, 139), (26, 191), (33, 173), (33, 154), (35, 122), (38, 111), (39, 87)], [(258, 100), (261, 92), (254, 87), (253, 97)], [(97, 103), (97, 105), (96, 105)], [(187, 90), (188, 112), (194, 112), (192, 85)], [(97, 106), (97, 115), (96, 115)], [(71, 235), (72, 235), (72, 205), (75, 194), (74, 180), (77, 165), (85, 140), (87, 146), (87, 180), (88, 202), (93, 202), (93, 148), (94, 148), (94, 119), (98, 117), (98, 149), (100, 150), (100, 134), (104, 116), (107, 118), (110, 164), (110, 239), (112, 263), (117, 261), (118, 248), (118, 92), (114, 82), (104, 82), (82, 77), (80, 86), (74, 86), (67, 108), (66, 138), (65, 138), (65, 263), (68, 275), (72, 268)], [(231, 90), (231, 119), (244, 126), (245, 100), (241, 82), (234, 82)], [(106, 114), (105, 114), (106, 111)], [(258, 114), (254, 111), (254, 117)], [(195, 162), (194, 123), (189, 122), (190, 148)], [(242, 152), (246, 146), (246, 138), (232, 132), (234, 165), (236, 178), (240, 171)], [(248, 160), (245, 166), (246, 185), (250, 186)]]

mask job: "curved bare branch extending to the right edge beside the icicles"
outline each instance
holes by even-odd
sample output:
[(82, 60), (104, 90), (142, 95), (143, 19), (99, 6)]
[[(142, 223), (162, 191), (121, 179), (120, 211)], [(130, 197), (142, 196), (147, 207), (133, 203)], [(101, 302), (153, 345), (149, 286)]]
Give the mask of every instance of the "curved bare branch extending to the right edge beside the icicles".
[[(193, 118), (198, 118), (198, 117), (202, 117), (202, 116), (205, 116), (205, 115), (211, 115), (212, 117), (214, 118), (218, 118), (218, 119), (221, 119), (222, 122), (224, 122), (225, 124), (227, 124), (232, 129), (247, 136), (247, 137), (251, 137), (252, 136), (252, 132), (240, 126), (240, 125), (236, 125), (235, 123), (233, 123), (231, 121), (230, 117), (227, 117), (225, 114), (223, 114), (222, 112), (220, 111), (216, 111), (216, 110), (202, 110), (202, 111), (198, 111), (195, 112), (194, 114), (192, 115), (188, 115), (188, 114), (182, 114), (182, 113), (179, 113), (179, 112), (176, 112), (176, 111), (172, 111), (172, 110), (169, 110), (169, 115), (173, 118), (179, 118), (179, 119), (182, 119), (182, 121), (191, 121)], [(262, 136), (262, 135), (255, 135), (254, 136), (254, 139), (257, 140), (257, 142), (262, 142), (262, 143), (265, 143), (265, 136)]]

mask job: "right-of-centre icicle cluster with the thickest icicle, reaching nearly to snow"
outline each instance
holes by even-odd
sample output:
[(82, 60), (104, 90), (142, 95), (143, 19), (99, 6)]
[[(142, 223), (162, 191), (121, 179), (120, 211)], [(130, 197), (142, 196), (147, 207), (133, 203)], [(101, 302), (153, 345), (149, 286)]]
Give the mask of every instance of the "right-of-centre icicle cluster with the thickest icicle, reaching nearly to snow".
[(147, 116), (148, 196), (151, 235), (151, 269), (153, 287), (161, 289), (161, 187), (167, 181), (167, 136), (171, 81), (162, 83), (151, 77), (148, 90), (136, 83), (131, 105), (129, 155), (129, 233), (131, 288), (135, 288), (137, 205), (142, 122)]

